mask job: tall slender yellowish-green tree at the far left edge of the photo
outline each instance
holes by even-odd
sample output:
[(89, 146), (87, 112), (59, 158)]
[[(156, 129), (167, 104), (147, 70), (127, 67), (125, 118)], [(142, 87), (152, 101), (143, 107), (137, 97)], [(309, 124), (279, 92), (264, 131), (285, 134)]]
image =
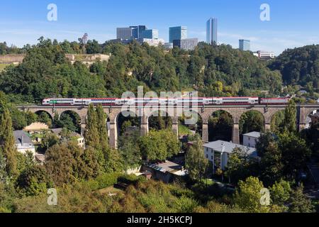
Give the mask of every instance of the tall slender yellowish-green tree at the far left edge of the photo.
[[(16, 142), (13, 136), (12, 121), (9, 110), (0, 104), (0, 153), (6, 160), (6, 172), (10, 177), (16, 176)], [(2, 112), (2, 113), (1, 113)]]

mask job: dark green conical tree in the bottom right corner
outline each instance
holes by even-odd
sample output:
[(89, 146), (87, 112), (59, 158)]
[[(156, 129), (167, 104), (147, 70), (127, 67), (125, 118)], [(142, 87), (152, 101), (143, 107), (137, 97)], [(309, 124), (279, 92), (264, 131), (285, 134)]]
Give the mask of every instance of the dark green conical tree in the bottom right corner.
[(313, 205), (306, 194), (303, 193), (303, 185), (301, 184), (296, 190), (291, 193), (289, 199), (289, 212), (291, 213), (312, 213), (314, 212)]

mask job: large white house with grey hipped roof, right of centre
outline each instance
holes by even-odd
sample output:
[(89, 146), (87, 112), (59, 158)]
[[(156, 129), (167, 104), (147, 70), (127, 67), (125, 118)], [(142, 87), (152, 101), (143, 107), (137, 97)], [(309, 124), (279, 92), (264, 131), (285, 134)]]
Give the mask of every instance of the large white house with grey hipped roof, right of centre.
[(255, 148), (248, 148), (244, 145), (225, 142), (223, 140), (217, 140), (203, 145), (205, 157), (213, 164), (213, 172), (218, 168), (220, 168), (220, 170), (225, 170), (229, 156), (233, 153), (235, 148), (247, 151), (247, 154), (250, 155), (250, 157), (257, 157)]

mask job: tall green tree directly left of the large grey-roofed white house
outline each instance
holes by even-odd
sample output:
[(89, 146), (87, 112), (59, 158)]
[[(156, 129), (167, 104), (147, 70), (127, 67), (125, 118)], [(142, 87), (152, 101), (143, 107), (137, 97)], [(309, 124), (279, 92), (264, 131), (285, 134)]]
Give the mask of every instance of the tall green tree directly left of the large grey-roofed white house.
[(208, 172), (208, 159), (203, 153), (203, 144), (201, 140), (197, 140), (189, 147), (186, 155), (186, 170), (189, 172), (189, 177), (195, 181), (201, 181), (206, 177)]

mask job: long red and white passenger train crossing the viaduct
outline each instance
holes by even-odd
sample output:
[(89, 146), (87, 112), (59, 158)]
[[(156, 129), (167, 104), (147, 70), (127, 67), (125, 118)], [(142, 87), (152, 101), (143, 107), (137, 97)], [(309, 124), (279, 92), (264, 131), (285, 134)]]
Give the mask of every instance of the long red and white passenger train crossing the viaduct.
[(89, 106), (89, 104), (102, 106), (255, 106), (288, 104), (289, 98), (259, 98), (259, 97), (213, 97), (213, 98), (145, 98), (145, 99), (43, 99), (43, 106)]

